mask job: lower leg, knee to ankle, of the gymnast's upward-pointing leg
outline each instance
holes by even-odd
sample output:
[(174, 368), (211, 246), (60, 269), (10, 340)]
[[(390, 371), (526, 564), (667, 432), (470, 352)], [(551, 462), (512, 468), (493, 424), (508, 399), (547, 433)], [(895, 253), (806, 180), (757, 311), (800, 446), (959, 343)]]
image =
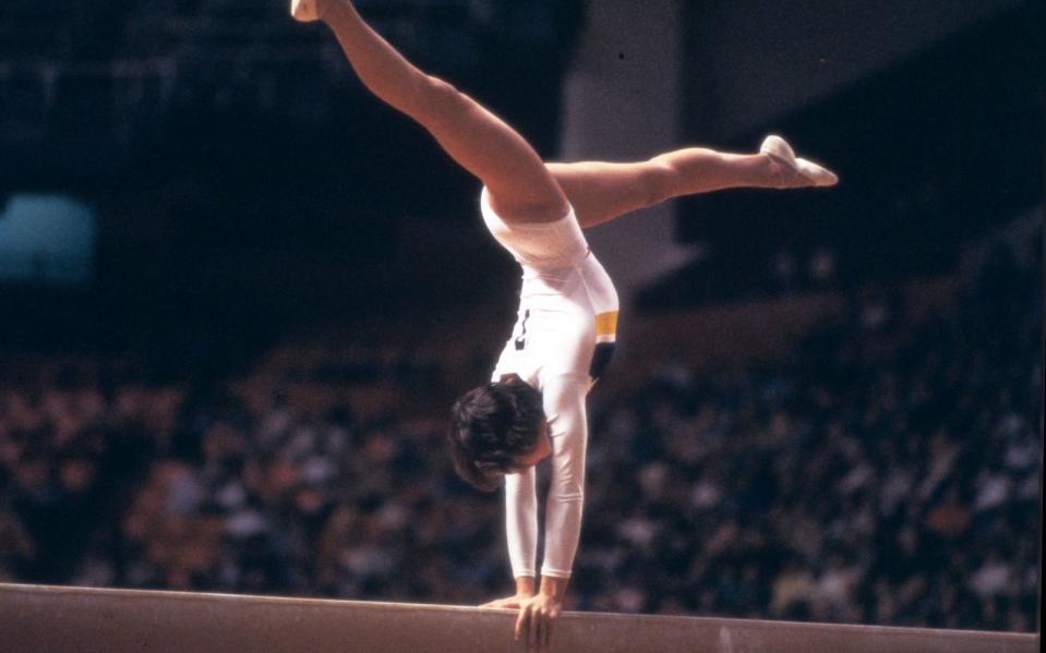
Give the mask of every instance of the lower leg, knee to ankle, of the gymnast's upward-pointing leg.
[(360, 81), (394, 108), (412, 114), (433, 80), (374, 32), (349, 0), (333, 0), (323, 14)]

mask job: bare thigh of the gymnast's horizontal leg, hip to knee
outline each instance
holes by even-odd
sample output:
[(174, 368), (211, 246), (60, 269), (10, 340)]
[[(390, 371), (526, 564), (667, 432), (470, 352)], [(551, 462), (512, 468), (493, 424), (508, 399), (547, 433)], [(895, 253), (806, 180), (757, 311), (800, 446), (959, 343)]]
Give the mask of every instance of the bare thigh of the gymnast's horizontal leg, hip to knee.
[(656, 161), (581, 161), (545, 167), (574, 206), (581, 227), (652, 206), (672, 193), (672, 169)]

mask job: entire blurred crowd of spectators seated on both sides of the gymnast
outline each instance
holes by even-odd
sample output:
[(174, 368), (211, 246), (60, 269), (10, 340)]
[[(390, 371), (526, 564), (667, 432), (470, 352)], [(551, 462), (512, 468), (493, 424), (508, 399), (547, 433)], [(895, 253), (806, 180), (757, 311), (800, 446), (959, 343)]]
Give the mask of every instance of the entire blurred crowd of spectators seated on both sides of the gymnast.
[[(569, 607), (1034, 629), (1041, 265), (998, 247), (947, 314), (865, 294), (791, 360), (664, 361), (593, 398)], [(502, 499), (454, 475), (425, 400), (453, 385), (389, 346), (286, 346), (211, 384), (9, 360), (0, 580), (503, 594)]]

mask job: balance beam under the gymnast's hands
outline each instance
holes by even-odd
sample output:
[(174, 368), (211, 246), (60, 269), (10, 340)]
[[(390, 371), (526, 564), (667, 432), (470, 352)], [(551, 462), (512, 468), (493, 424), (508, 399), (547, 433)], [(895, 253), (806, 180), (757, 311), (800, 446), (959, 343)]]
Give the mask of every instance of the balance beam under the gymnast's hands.
[[(442, 605), (97, 590), (0, 583), (5, 653), (492, 653), (508, 610)], [(1034, 653), (1038, 634), (753, 619), (565, 613), (569, 653)]]

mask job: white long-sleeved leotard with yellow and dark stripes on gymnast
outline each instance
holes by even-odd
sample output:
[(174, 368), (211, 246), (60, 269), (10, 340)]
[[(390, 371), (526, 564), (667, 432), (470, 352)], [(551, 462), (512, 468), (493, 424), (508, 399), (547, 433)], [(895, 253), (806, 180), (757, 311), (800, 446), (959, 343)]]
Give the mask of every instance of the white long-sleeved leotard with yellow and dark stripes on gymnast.
[[(601, 354), (613, 346), (616, 336), (617, 292), (589, 250), (573, 208), (554, 222), (508, 225), (494, 213), (486, 189), (480, 208), (486, 228), (524, 271), (516, 326), (492, 379), (515, 373), (541, 391), (552, 439), (552, 483), (545, 504), (541, 573), (568, 578), (585, 500), (585, 397), (592, 376), (598, 376), (593, 363), (602, 362)], [(506, 474), (505, 509), (513, 575), (534, 576), (534, 468)]]

